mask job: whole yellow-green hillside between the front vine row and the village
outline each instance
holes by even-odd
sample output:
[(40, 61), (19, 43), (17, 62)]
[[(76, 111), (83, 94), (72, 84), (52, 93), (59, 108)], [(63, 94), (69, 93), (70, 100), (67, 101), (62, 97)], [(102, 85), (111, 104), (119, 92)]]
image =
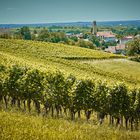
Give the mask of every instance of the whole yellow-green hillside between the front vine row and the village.
[(125, 60), (121, 55), (64, 44), (0, 39), (0, 61), (5, 65), (17, 63), (43, 71), (60, 70), (78, 78), (140, 85), (140, 64), (122, 58)]

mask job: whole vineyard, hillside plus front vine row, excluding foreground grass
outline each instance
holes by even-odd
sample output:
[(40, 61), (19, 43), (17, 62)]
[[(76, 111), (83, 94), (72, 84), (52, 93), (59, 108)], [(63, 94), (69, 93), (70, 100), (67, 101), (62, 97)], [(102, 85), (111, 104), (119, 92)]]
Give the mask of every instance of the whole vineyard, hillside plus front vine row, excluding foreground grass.
[(139, 130), (137, 62), (76, 46), (0, 39), (0, 63), (0, 110)]

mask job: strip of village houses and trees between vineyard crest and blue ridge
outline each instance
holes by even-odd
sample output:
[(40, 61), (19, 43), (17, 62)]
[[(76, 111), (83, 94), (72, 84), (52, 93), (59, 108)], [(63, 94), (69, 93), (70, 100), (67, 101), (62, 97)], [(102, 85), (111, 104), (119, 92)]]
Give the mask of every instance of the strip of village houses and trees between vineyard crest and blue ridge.
[[(52, 43), (64, 43), (76, 45), (89, 49), (103, 50), (113, 54), (126, 55), (128, 43), (135, 38), (140, 38), (140, 32), (121, 33), (113, 32), (111, 27), (102, 27), (93, 21), (90, 26), (51, 26), (51, 27), (21, 27), (21, 28), (0, 28), (0, 38), (27, 39)], [(119, 25), (121, 27), (121, 25)], [(126, 28), (131, 31), (130, 27)], [(127, 29), (128, 28), (128, 29)], [(60, 30), (61, 29), (61, 30)], [(83, 29), (86, 29), (83, 31)], [(117, 26), (114, 27), (118, 31)], [(135, 29), (135, 27), (134, 27)]]

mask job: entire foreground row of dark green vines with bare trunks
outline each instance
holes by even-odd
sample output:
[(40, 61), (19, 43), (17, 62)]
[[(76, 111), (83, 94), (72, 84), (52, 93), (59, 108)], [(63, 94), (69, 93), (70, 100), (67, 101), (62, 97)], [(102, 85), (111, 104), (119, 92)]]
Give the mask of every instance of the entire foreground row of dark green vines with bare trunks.
[(29, 112), (35, 106), (38, 114), (44, 106), (44, 115), (70, 114), (72, 120), (76, 113), (80, 118), (85, 112), (89, 120), (96, 112), (100, 124), (109, 116), (111, 125), (123, 126), (125, 120), (125, 127), (132, 130), (134, 126), (138, 129), (140, 120), (140, 89), (130, 90), (123, 83), (108, 86), (102, 81), (77, 80), (73, 75), (65, 77), (61, 72), (44, 73), (17, 65), (0, 65), (0, 102), (6, 108), (10, 103)]

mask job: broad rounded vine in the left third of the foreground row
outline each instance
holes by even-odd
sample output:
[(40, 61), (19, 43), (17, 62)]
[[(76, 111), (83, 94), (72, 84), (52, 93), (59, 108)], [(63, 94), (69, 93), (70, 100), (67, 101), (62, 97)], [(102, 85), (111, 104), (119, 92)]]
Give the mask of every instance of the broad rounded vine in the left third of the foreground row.
[(37, 69), (28, 70), (21, 80), (21, 89), (24, 99), (27, 100), (28, 110), (31, 110), (31, 101), (34, 101), (38, 113), (44, 91), (44, 75)]

